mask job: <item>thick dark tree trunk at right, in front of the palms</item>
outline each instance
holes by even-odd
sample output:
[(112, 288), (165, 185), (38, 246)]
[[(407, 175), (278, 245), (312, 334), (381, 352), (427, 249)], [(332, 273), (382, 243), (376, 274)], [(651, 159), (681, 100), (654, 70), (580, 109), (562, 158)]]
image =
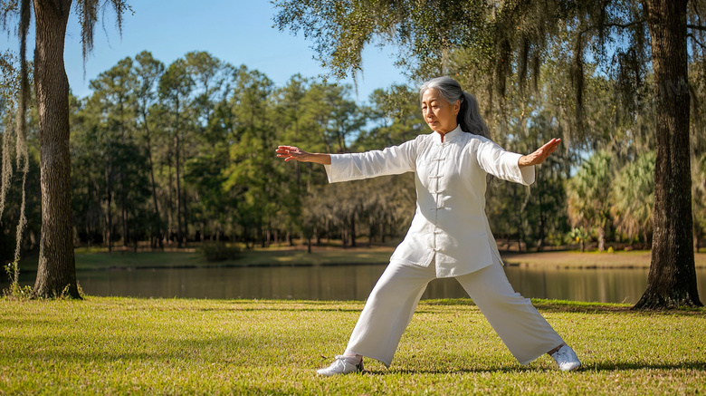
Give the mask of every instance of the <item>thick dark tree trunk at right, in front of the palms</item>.
[(657, 158), (652, 264), (636, 309), (702, 305), (692, 249), (687, 2), (643, 1), (652, 38)]

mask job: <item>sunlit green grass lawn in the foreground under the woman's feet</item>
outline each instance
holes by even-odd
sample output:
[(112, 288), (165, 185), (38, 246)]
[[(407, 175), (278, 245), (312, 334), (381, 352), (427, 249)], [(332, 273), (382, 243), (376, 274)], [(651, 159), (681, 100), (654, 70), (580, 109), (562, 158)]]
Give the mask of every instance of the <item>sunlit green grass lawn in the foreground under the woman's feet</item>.
[(0, 299), (0, 394), (697, 394), (706, 311), (535, 302), (585, 368), (520, 366), (468, 300), (423, 301), (387, 370), (320, 378), (361, 302)]

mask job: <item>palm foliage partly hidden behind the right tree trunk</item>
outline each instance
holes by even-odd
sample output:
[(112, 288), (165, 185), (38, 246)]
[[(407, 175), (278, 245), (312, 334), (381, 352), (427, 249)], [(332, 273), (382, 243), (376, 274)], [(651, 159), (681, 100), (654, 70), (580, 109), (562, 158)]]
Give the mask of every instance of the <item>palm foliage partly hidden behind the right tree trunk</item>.
[(620, 171), (610, 201), (618, 230), (631, 240), (642, 233), (644, 244), (648, 245), (654, 208), (654, 151), (641, 155)]

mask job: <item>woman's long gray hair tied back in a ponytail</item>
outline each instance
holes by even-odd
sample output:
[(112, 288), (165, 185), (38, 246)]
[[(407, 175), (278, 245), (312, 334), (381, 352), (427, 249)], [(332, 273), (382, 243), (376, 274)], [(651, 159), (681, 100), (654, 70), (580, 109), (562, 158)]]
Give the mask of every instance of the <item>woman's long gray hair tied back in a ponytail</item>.
[(448, 101), (450, 104), (461, 101), (461, 110), (456, 116), (456, 122), (461, 125), (461, 130), (491, 139), (488, 125), (485, 124), (481, 112), (478, 110), (478, 101), (475, 96), (463, 91), (461, 84), (448, 76), (431, 79), (419, 88), (419, 101), (422, 101), (425, 91), (430, 88), (438, 90), (444, 101)]

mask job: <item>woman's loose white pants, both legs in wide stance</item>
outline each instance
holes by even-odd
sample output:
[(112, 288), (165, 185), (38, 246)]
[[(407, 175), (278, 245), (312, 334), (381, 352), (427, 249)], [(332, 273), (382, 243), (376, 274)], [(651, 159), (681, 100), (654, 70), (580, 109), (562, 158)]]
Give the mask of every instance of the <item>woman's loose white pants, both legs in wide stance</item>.
[[(390, 263), (367, 298), (346, 352), (389, 367), (426, 285), (435, 277), (434, 263), (428, 267)], [(564, 343), (530, 299), (515, 293), (500, 264), (457, 276), (456, 280), (520, 364), (532, 362)]]

